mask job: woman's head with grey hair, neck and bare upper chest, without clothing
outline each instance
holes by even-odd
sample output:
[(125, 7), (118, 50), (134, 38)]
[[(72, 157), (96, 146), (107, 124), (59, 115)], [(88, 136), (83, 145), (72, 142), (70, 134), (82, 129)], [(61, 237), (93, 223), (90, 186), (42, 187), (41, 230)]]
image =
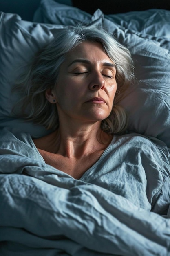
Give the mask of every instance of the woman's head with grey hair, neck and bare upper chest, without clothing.
[(57, 32), (24, 81), (24, 108), (31, 101), (26, 118), (55, 130), (34, 140), (46, 163), (80, 178), (99, 159), (113, 133), (126, 129), (125, 112), (115, 104), (132, 82), (131, 70), (130, 53), (106, 32)]

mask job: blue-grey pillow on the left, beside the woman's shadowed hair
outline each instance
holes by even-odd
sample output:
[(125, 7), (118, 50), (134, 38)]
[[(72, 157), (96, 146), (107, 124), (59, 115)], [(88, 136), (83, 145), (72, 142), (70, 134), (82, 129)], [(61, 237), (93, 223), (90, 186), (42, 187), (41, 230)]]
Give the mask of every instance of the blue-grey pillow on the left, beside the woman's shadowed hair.
[(3, 12), (0, 21), (0, 127), (16, 127), (33, 137), (46, 135), (44, 127), (15, 118), (12, 109), (18, 99), (11, 88), (30, 58), (53, 36), (53, 29), (62, 26), (35, 24)]

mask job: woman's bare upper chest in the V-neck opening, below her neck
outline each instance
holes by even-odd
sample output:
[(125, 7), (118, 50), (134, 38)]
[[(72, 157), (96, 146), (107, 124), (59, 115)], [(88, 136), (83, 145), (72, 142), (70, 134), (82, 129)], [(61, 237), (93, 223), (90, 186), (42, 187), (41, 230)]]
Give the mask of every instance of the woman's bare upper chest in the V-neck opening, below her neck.
[(42, 155), (46, 164), (71, 175), (75, 179), (82, 177), (82, 175), (97, 162), (104, 152), (104, 150), (100, 150), (84, 156), (81, 159), (70, 159), (44, 150), (38, 149), (38, 151)]

